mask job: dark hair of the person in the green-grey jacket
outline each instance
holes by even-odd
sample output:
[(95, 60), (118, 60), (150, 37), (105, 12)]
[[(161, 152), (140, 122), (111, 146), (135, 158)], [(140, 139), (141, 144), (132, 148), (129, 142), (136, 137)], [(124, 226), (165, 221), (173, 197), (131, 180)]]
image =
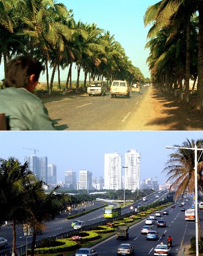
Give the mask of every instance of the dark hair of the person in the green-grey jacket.
[(44, 66), (37, 59), (26, 55), (18, 56), (6, 65), (4, 85), (15, 88), (26, 87), (30, 76), (34, 74), (35, 80), (38, 80), (42, 70)]

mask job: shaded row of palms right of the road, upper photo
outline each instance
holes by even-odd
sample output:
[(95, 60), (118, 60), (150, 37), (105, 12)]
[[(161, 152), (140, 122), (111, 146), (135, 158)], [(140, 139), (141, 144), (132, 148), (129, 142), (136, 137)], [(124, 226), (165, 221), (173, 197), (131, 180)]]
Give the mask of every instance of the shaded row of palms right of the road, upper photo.
[[(189, 80), (197, 81), (197, 109), (203, 106), (203, 5), (202, 0), (162, 0), (144, 15), (148, 31), (146, 48), (151, 78), (167, 90), (180, 89), (189, 102)], [(185, 93), (183, 97), (183, 84)], [(176, 96), (176, 95), (175, 95)]]

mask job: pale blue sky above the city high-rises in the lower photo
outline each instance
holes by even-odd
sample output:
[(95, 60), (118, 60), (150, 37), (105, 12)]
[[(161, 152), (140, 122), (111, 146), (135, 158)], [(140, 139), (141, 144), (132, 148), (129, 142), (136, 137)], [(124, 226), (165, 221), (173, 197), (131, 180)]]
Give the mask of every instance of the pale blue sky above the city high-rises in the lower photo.
[(24, 163), (24, 156), (33, 155), (36, 148), (39, 157), (47, 156), (48, 163), (57, 165), (57, 180), (64, 182), (65, 170), (72, 169), (79, 177), (80, 169), (87, 169), (94, 177), (104, 178), (104, 154), (118, 152), (123, 158), (128, 150), (141, 153), (141, 181), (155, 177), (162, 184), (161, 174), (168, 155), (173, 152), (165, 146), (181, 145), (186, 138), (203, 138), (203, 132), (193, 131), (67, 131), (67, 132), (0, 132), (0, 157), (18, 158)]

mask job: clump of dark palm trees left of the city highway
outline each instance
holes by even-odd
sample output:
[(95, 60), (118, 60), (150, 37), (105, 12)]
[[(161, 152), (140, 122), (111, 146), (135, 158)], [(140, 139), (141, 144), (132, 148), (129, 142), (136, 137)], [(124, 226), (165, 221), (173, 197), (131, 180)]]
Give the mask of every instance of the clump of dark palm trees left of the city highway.
[(35, 178), (28, 162), (21, 164), (18, 159), (0, 158), (0, 227), (4, 221), (12, 221), (15, 255), (16, 225), (29, 224), (33, 229), (32, 255), (36, 236), (45, 229), (45, 222), (54, 220), (67, 206), (88, 201), (86, 196), (76, 197), (57, 193), (55, 187), (45, 193), (44, 182)]

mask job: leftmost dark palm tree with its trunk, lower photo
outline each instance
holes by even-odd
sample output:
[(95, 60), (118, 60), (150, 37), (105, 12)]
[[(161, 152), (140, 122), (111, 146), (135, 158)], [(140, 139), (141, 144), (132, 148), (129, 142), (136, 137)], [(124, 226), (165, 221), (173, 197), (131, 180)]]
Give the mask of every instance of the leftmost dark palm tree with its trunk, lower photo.
[(0, 158), (0, 221), (12, 220), (13, 245), (12, 255), (15, 255), (16, 224), (22, 224), (28, 215), (25, 207), (25, 186), (33, 180), (33, 174), (28, 169), (28, 163), (20, 164), (18, 159), (10, 157), (8, 160)]

